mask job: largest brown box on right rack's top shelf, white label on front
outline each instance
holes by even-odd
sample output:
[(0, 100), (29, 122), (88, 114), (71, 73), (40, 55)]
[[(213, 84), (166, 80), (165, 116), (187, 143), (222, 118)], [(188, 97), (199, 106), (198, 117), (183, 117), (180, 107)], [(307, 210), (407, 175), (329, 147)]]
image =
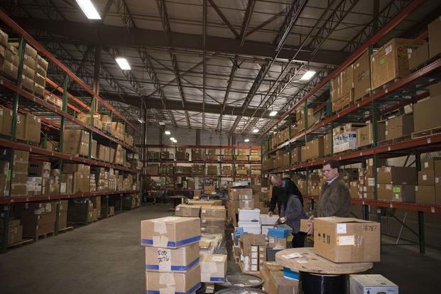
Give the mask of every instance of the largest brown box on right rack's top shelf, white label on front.
[(408, 75), (408, 52), (417, 49), (423, 43), (423, 40), (393, 38), (372, 54), (371, 80), (373, 89)]

